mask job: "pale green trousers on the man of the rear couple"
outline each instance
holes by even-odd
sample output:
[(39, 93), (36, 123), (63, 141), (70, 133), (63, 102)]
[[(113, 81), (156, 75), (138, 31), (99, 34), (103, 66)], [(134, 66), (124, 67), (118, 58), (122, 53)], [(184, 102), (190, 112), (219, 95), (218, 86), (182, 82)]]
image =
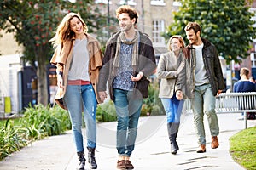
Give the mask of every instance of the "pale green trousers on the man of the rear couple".
[(211, 135), (218, 136), (219, 127), (218, 117), (215, 111), (215, 100), (216, 98), (212, 94), (210, 84), (195, 86), (195, 98), (191, 99), (191, 104), (198, 144), (206, 144), (204, 114), (207, 115)]

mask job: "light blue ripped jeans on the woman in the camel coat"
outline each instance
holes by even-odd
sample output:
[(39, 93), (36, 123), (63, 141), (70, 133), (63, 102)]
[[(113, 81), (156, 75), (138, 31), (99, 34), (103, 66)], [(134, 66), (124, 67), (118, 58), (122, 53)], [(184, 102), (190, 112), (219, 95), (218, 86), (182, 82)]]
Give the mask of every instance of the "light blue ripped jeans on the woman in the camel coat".
[(82, 133), (82, 109), (86, 126), (87, 147), (96, 148), (96, 94), (91, 84), (67, 85), (65, 105), (72, 122), (73, 140), (77, 152), (84, 150)]

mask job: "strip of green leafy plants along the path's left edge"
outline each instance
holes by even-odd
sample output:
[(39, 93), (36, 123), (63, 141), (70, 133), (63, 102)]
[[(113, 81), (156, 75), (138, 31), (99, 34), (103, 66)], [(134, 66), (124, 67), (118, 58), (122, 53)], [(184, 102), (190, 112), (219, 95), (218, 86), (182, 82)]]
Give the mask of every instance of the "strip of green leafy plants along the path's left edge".
[(24, 116), (16, 120), (2, 121), (0, 126), (0, 161), (33, 140), (58, 135), (71, 129), (67, 111), (36, 105), (26, 108)]

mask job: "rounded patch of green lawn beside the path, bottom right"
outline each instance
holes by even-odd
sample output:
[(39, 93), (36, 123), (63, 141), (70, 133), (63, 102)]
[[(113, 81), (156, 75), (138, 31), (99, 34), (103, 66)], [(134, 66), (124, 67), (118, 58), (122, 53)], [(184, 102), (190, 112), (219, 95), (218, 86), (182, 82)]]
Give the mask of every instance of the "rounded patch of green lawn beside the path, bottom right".
[(250, 127), (230, 138), (230, 154), (247, 170), (256, 169), (256, 127)]

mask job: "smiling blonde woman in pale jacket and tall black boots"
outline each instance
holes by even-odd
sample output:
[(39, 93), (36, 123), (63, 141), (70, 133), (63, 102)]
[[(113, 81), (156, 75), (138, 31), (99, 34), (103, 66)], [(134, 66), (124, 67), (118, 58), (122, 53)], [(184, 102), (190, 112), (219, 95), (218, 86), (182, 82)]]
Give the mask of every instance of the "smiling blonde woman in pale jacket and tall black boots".
[(172, 36), (167, 43), (169, 52), (160, 55), (156, 73), (160, 79), (159, 98), (166, 111), (172, 154), (177, 154), (179, 150), (176, 139), (184, 101), (182, 94), (175, 93), (175, 86), (177, 77), (184, 68), (184, 47), (183, 37)]

